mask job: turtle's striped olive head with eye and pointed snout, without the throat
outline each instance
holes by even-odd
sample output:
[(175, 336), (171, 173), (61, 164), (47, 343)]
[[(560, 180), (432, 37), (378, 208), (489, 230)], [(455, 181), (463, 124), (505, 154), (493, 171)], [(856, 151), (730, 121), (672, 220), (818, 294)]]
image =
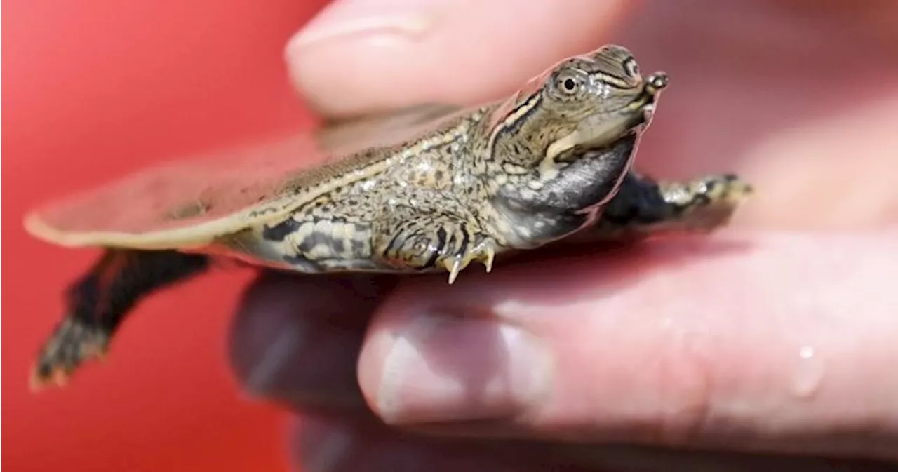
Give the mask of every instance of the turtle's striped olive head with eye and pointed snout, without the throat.
[(497, 107), (489, 151), (524, 165), (576, 159), (645, 129), (666, 86), (667, 74), (643, 76), (621, 46), (569, 57)]

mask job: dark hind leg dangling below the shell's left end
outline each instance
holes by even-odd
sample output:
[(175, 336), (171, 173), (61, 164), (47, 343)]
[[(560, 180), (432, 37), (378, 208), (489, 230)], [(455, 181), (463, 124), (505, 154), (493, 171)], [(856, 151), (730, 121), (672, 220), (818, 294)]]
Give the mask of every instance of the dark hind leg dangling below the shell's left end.
[(207, 256), (172, 250), (105, 250), (69, 287), (66, 318), (40, 350), (32, 389), (65, 384), (82, 363), (106, 353), (111, 337), (142, 297), (208, 266)]

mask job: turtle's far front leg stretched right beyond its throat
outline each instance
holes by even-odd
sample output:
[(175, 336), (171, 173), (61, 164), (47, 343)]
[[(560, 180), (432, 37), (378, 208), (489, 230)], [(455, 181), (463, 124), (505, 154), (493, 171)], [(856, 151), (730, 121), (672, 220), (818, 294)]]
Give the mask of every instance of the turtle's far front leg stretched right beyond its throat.
[(630, 172), (589, 236), (626, 240), (666, 232), (711, 232), (729, 223), (752, 193), (752, 186), (735, 175), (665, 182)]

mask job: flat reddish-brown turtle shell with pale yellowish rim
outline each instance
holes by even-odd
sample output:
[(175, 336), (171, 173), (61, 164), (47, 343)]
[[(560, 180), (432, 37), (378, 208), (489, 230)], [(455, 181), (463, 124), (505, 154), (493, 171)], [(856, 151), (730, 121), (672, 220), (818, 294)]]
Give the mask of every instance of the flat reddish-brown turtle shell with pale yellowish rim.
[(292, 211), (319, 183), (387, 155), (362, 151), (401, 146), (453, 110), (420, 106), (168, 162), (42, 205), (24, 225), (61, 246), (201, 248)]

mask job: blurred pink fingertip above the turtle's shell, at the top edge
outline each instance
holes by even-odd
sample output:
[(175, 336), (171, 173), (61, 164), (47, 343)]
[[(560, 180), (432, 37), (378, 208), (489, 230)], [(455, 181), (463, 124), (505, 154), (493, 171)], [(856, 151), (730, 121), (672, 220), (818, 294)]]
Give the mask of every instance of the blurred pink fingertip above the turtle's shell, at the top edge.
[(338, 0), (291, 39), (296, 87), (334, 115), (493, 99), (599, 46), (632, 2)]

